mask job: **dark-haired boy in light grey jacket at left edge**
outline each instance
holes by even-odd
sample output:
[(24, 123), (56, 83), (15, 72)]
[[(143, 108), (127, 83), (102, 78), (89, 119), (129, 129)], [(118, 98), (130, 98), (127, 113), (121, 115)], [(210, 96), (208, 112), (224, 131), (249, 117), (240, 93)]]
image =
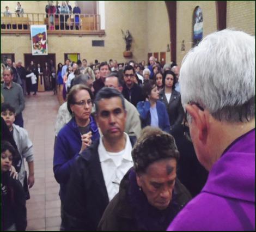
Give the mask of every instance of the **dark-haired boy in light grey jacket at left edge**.
[[(20, 152), (21, 158), (21, 169), (19, 172), (19, 180), (24, 187), (27, 194), (26, 198), (29, 199), (29, 193), (27, 185), (31, 188), (34, 185), (34, 156), (33, 156), (33, 144), (28, 138), (28, 133), (25, 129), (14, 124), (15, 120), (15, 109), (8, 103), (2, 103), (1, 105), (1, 116), (7, 124), (9, 131), (13, 133), (14, 141), (17, 145), (17, 150)], [(26, 158), (28, 163), (28, 179), (26, 178), (25, 163), (23, 158)], [(19, 164), (18, 164), (19, 166)], [(26, 184), (26, 186), (25, 186)]]

